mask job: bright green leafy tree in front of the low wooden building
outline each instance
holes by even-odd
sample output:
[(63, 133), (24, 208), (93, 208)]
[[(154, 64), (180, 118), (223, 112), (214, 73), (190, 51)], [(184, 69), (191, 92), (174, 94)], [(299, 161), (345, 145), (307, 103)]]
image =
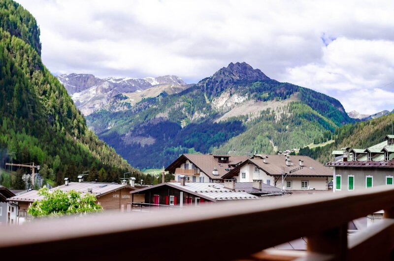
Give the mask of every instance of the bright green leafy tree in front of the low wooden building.
[(86, 214), (102, 211), (101, 205), (95, 203), (97, 200), (96, 196), (90, 193), (81, 196), (81, 193), (74, 190), (67, 192), (54, 190), (50, 192), (48, 188), (42, 188), (38, 191), (38, 195), (44, 196), (44, 198), (40, 201), (34, 201), (28, 209), (28, 214), (33, 217)]

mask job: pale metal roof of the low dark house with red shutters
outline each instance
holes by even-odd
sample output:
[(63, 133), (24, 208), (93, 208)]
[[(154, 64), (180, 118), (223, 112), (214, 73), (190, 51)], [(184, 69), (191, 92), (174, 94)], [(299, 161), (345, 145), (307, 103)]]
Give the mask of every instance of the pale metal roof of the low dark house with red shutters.
[(199, 182), (186, 182), (182, 186), (180, 182), (166, 182), (149, 188), (131, 191), (130, 194), (140, 194), (143, 191), (151, 190), (161, 186), (169, 186), (184, 192), (188, 192), (195, 196), (200, 196), (212, 201), (220, 200), (236, 200), (236, 199), (256, 199), (258, 196), (251, 195), (242, 190), (231, 190), (224, 187), (224, 183), (199, 183)]

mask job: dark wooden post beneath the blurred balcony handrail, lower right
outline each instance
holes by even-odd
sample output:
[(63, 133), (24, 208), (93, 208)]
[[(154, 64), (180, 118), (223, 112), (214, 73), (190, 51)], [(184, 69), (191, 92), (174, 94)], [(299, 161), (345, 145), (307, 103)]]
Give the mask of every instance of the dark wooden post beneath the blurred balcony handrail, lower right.
[(348, 249), (348, 225), (331, 228), (317, 235), (308, 236), (308, 252), (331, 254), (335, 261), (346, 260)]

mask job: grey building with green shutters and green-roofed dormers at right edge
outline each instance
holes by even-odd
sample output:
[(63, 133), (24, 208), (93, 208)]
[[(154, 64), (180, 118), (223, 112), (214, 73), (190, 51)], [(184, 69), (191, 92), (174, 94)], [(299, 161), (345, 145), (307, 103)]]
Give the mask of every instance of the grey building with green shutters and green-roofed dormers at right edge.
[(342, 148), (333, 151), (333, 190), (351, 191), (394, 184), (394, 135), (368, 148)]

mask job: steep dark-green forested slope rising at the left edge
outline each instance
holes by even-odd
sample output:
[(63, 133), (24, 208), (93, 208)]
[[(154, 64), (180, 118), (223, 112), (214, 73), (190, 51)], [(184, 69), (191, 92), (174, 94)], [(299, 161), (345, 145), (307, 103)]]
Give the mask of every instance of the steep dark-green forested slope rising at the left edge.
[(0, 167), (34, 162), (58, 184), (83, 170), (91, 171), (88, 179), (103, 181), (140, 174), (88, 130), (66, 89), (42, 64), (33, 16), (0, 0), (0, 18)]

